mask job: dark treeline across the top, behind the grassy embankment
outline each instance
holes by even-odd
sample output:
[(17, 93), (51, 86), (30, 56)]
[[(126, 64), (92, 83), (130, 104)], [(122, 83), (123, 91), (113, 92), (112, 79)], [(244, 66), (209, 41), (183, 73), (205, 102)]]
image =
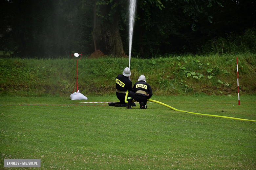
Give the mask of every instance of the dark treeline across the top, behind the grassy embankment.
[[(34, 57), (99, 49), (120, 56), (102, 47), (115, 46), (108, 39), (119, 34), (128, 55), (129, 0), (2, 0), (0, 15), (0, 51)], [(254, 53), (255, 19), (254, 0), (137, 0), (132, 56)], [(108, 33), (112, 23), (119, 32)]]

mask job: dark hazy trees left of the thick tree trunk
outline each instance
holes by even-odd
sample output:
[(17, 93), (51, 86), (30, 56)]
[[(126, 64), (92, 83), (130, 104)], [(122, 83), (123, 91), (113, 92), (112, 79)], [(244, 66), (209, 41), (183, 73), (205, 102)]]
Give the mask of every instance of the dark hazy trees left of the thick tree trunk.
[(93, 17), (86, 14), (91, 9), (90, 3), (81, 4), (79, 0), (3, 0), (1, 3), (1, 51), (20, 56), (89, 51), (92, 38), (88, 35), (93, 24), (88, 23), (92, 23)]

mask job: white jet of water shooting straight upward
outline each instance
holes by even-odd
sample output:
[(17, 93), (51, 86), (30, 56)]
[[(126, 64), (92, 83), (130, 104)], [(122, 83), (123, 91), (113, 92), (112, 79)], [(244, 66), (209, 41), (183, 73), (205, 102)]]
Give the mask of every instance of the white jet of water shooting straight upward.
[(136, 6), (136, 0), (130, 0), (130, 7), (129, 7), (129, 11), (130, 11), (130, 13), (129, 13), (129, 68), (130, 68), (131, 53), (132, 53), (135, 6)]

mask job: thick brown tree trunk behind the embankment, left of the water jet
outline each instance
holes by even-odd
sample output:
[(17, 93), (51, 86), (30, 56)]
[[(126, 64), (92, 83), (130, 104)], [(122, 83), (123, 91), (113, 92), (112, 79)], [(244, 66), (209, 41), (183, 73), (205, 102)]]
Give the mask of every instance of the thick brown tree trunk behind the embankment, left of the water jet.
[[(96, 0), (95, 0), (96, 2)], [(94, 7), (94, 29), (93, 40), (95, 50), (100, 50), (104, 55), (126, 57), (123, 44), (118, 28), (118, 13), (115, 12), (111, 20), (98, 16), (96, 9), (99, 9), (98, 14), (103, 17), (109, 16), (111, 4), (100, 5), (99, 8), (95, 3)]]

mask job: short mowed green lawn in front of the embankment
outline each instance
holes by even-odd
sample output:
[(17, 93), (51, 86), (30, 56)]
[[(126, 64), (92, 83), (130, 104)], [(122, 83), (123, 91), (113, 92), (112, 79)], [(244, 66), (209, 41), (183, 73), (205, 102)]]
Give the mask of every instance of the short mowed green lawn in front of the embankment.
[[(117, 101), (115, 96), (87, 97), (2, 96), (0, 169), (34, 169), (4, 168), (4, 159), (41, 159), (35, 169), (58, 170), (256, 169), (256, 122), (179, 112), (157, 103), (145, 110), (67, 106)], [(178, 110), (256, 120), (256, 96), (240, 96), (240, 106), (237, 96), (151, 99)], [(87, 104), (107, 103), (76, 105)]]

